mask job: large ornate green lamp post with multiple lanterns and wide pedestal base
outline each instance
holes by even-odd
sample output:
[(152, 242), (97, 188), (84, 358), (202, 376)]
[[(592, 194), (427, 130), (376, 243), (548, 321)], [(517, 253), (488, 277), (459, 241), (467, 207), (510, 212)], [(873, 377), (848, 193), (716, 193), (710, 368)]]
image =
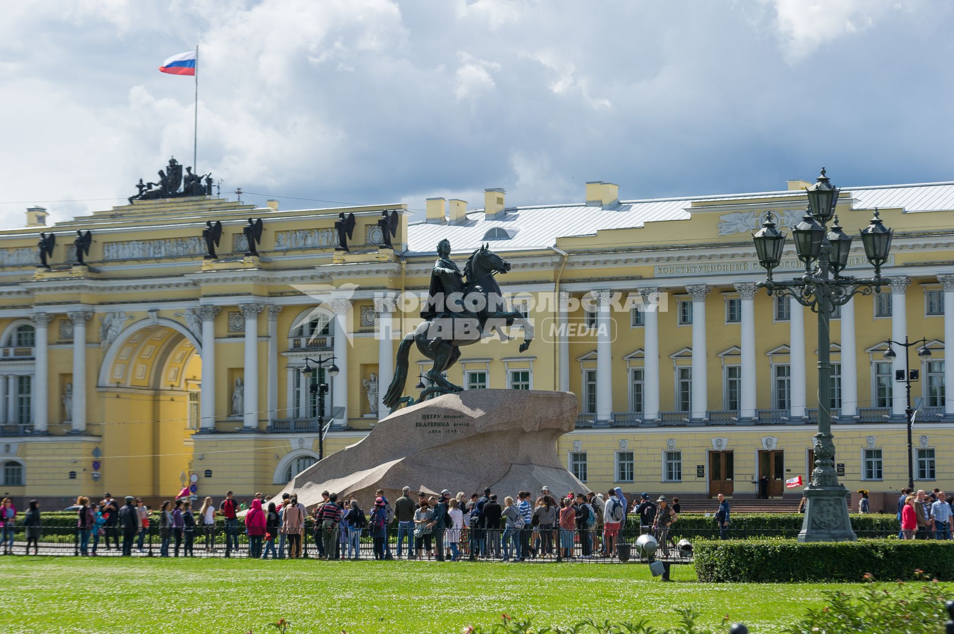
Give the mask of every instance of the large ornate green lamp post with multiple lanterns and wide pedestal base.
[[(815, 468), (805, 487), (808, 504), (798, 533), (799, 542), (854, 541), (855, 532), (848, 518), (845, 496), (848, 490), (838, 481), (835, 471), (835, 443), (831, 432), (831, 360), (829, 324), (836, 306), (847, 303), (855, 295), (881, 292), (888, 280), (881, 277), (881, 266), (888, 259), (892, 230), (881, 223), (878, 210), (869, 225), (861, 230), (864, 255), (875, 267), (875, 276), (856, 278), (842, 276), (848, 265), (851, 236), (841, 231), (835, 208), (840, 190), (833, 187), (821, 168), (818, 181), (808, 188), (808, 209), (804, 218), (792, 229), (798, 259), (805, 273), (791, 280), (775, 281), (772, 271), (781, 260), (785, 234), (776, 229), (770, 214), (762, 228), (753, 235), (758, 262), (765, 268), (767, 279), (759, 286), (769, 296), (794, 297), (819, 316), (819, 432), (815, 435)], [(834, 220), (829, 230), (827, 224)]]

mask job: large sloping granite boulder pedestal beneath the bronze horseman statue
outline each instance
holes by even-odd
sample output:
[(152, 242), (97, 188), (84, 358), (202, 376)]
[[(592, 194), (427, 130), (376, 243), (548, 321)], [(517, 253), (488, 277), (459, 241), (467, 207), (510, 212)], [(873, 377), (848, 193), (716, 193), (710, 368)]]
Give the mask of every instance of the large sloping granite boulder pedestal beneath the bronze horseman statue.
[(321, 491), (354, 495), (363, 508), (384, 489), (393, 503), (404, 486), (437, 494), (449, 489), (554, 497), (589, 491), (564, 468), (556, 440), (573, 431), (578, 405), (570, 392), (466, 390), (405, 407), (359, 442), (302, 471), (279, 493), (297, 493), (311, 509)]

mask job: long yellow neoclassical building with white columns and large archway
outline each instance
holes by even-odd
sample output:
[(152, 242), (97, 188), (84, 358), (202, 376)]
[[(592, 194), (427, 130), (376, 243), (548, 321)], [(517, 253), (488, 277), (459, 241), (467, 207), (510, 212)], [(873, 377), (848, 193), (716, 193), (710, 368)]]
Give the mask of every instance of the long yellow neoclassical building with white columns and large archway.
[[(498, 281), (534, 325), (524, 353), (517, 327), (511, 341), (462, 348), (449, 380), (574, 392), (577, 430), (558, 449), (593, 489), (752, 496), (764, 474), (780, 495), (810, 470), (817, 322), (757, 290), (751, 233), (767, 212), (779, 226), (798, 221), (808, 185), (624, 200), (594, 181), (577, 202), (533, 207), (488, 189), (483, 209), (428, 199), (415, 223), (400, 204), (286, 211), (211, 195), (135, 200), (52, 227), (33, 207), (26, 227), (0, 232), (0, 493), (156, 499), (189, 480), (198, 496), (274, 490), (318, 459), (312, 385), (329, 385), (325, 453), (384, 417), (398, 339), (419, 323), (447, 238), (462, 265), (485, 243), (506, 258)], [(875, 208), (895, 230), (891, 284), (832, 323), (836, 461), (849, 488), (904, 485), (904, 355), (882, 354), (885, 339), (925, 337), (930, 358), (911, 357), (912, 460), (923, 488), (944, 486), (954, 182), (842, 188), (846, 231)], [(249, 218), (262, 220), (260, 239)], [(217, 257), (206, 257), (203, 230), (218, 222)], [(336, 250), (342, 239), (349, 251)], [(867, 275), (856, 250), (850, 266)], [(799, 266), (787, 252), (777, 276)], [(415, 355), (407, 394), (429, 367)], [(323, 375), (327, 362), (301, 373), (331, 357), (337, 376)]]

